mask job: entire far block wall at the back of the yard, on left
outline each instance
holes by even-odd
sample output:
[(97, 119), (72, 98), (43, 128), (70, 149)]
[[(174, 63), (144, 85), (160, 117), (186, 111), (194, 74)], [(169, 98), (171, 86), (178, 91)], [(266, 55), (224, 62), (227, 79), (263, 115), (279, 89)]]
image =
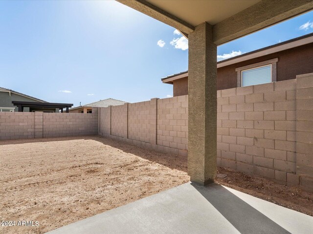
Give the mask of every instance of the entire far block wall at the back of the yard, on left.
[(98, 133), (98, 108), (92, 114), (0, 112), (0, 139), (69, 137)]

